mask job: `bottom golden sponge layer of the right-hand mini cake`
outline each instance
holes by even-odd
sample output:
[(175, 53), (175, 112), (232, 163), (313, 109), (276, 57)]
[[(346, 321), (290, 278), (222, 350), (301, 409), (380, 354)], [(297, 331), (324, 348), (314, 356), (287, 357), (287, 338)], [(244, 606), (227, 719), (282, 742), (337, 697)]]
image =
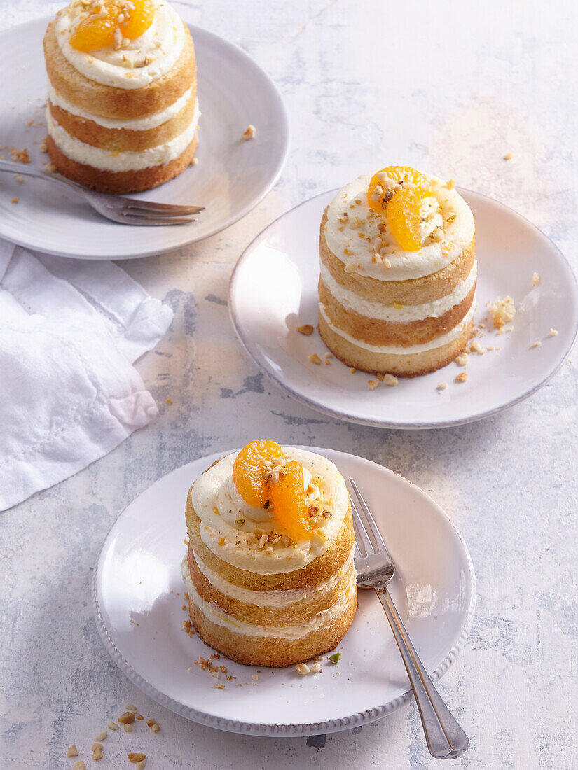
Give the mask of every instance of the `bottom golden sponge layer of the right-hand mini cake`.
[(319, 313), (319, 334), (336, 358), (348, 367), (369, 373), (395, 374), (396, 377), (417, 377), (419, 374), (428, 374), (447, 366), (464, 350), (472, 336), (472, 326), (473, 321), (470, 321), (462, 333), (446, 345), (402, 356), (375, 353), (344, 340), (328, 326)]

